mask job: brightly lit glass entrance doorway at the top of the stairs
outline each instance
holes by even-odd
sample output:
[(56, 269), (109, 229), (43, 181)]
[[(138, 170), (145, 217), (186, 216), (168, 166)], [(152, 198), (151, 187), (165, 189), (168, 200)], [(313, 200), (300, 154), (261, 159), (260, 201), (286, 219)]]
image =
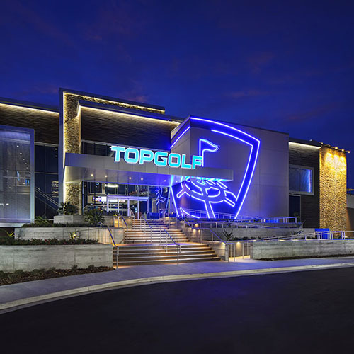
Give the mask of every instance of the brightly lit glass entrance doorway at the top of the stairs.
[(149, 213), (149, 197), (127, 197), (126, 195), (107, 195), (107, 211), (115, 211), (123, 217), (140, 219)]

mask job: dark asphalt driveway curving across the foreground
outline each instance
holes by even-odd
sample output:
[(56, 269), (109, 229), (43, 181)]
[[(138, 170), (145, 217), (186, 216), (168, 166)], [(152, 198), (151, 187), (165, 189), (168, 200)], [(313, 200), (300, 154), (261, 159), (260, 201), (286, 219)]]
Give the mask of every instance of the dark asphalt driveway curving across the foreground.
[(62, 299), (1, 314), (1, 353), (353, 353), (353, 280), (341, 268)]

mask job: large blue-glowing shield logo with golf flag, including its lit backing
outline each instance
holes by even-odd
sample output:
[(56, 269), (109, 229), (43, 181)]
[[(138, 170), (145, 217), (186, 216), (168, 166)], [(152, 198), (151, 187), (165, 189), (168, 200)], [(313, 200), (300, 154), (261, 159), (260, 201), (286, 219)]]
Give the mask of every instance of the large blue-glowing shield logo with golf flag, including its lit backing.
[[(175, 184), (171, 186), (171, 193), (176, 214), (178, 217), (236, 219), (251, 185), (261, 142), (256, 137), (222, 122), (197, 117), (190, 117), (190, 120), (198, 128), (209, 131), (207, 138), (200, 137), (198, 140), (199, 156), (202, 156), (200, 169), (210, 165), (222, 169), (225, 166), (220, 164), (224, 162), (227, 167), (234, 169), (234, 181), (175, 177), (177, 181), (175, 179)], [(226, 158), (225, 154), (228, 155)]]

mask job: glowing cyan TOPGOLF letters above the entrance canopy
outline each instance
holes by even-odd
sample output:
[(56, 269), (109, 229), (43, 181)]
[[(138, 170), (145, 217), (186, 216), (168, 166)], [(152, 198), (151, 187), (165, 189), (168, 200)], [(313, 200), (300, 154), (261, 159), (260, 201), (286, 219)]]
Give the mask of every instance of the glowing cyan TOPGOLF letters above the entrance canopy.
[(148, 149), (136, 149), (135, 147), (117, 147), (112, 146), (110, 149), (115, 152), (115, 162), (120, 161), (120, 154), (124, 154), (124, 161), (127, 164), (145, 164), (154, 162), (159, 167), (181, 167), (182, 169), (195, 169), (202, 166), (202, 156), (192, 156), (192, 163), (188, 164), (185, 154), (169, 153), (169, 152), (153, 152)]

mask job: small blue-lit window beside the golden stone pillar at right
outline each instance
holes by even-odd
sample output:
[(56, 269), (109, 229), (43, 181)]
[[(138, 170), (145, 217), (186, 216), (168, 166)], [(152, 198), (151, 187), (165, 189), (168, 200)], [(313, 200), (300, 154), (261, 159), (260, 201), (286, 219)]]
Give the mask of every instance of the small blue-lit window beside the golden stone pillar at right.
[(314, 194), (314, 169), (304, 166), (289, 166), (289, 190), (291, 193)]

